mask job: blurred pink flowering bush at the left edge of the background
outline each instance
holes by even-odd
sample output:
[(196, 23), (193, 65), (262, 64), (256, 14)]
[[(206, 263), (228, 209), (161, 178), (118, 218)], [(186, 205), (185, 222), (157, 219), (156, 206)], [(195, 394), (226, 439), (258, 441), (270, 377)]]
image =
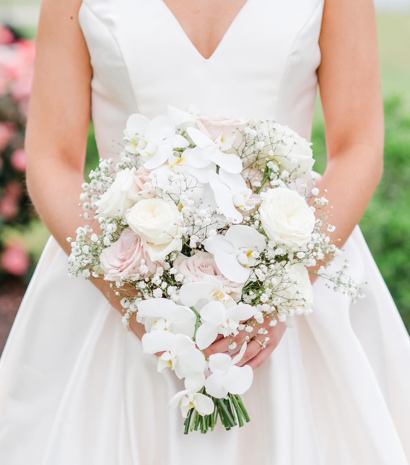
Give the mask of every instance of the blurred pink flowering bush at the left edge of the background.
[[(34, 42), (0, 25), (0, 232), (4, 226), (23, 229), (33, 218), (24, 150), (33, 63)], [(0, 278), (24, 277), (30, 264), (24, 247), (5, 242), (0, 233)]]

